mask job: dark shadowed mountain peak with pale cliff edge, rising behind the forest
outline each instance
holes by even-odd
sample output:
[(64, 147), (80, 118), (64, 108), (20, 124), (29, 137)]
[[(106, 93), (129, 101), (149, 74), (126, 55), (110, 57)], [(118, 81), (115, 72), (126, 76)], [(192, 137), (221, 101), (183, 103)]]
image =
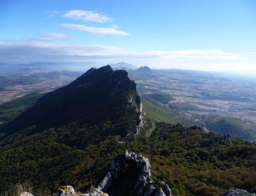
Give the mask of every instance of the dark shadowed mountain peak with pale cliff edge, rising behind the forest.
[(122, 136), (137, 133), (142, 108), (136, 91), (127, 72), (113, 71), (110, 66), (92, 68), (64, 88), (41, 97), (3, 127), (2, 133), (11, 135), (33, 125), (38, 131), (70, 122), (94, 125), (104, 121), (111, 122)]

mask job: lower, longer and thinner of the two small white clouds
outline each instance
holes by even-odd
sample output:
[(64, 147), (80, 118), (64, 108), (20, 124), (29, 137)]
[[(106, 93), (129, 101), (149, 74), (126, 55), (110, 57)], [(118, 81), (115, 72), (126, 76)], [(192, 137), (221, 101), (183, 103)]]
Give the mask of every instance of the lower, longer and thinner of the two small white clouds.
[(77, 29), (82, 31), (87, 31), (90, 33), (95, 33), (99, 35), (130, 35), (127, 32), (119, 31), (118, 26), (111, 27), (92, 27), (85, 25), (76, 25), (76, 24), (60, 24), (62, 27), (66, 27), (69, 29)]

